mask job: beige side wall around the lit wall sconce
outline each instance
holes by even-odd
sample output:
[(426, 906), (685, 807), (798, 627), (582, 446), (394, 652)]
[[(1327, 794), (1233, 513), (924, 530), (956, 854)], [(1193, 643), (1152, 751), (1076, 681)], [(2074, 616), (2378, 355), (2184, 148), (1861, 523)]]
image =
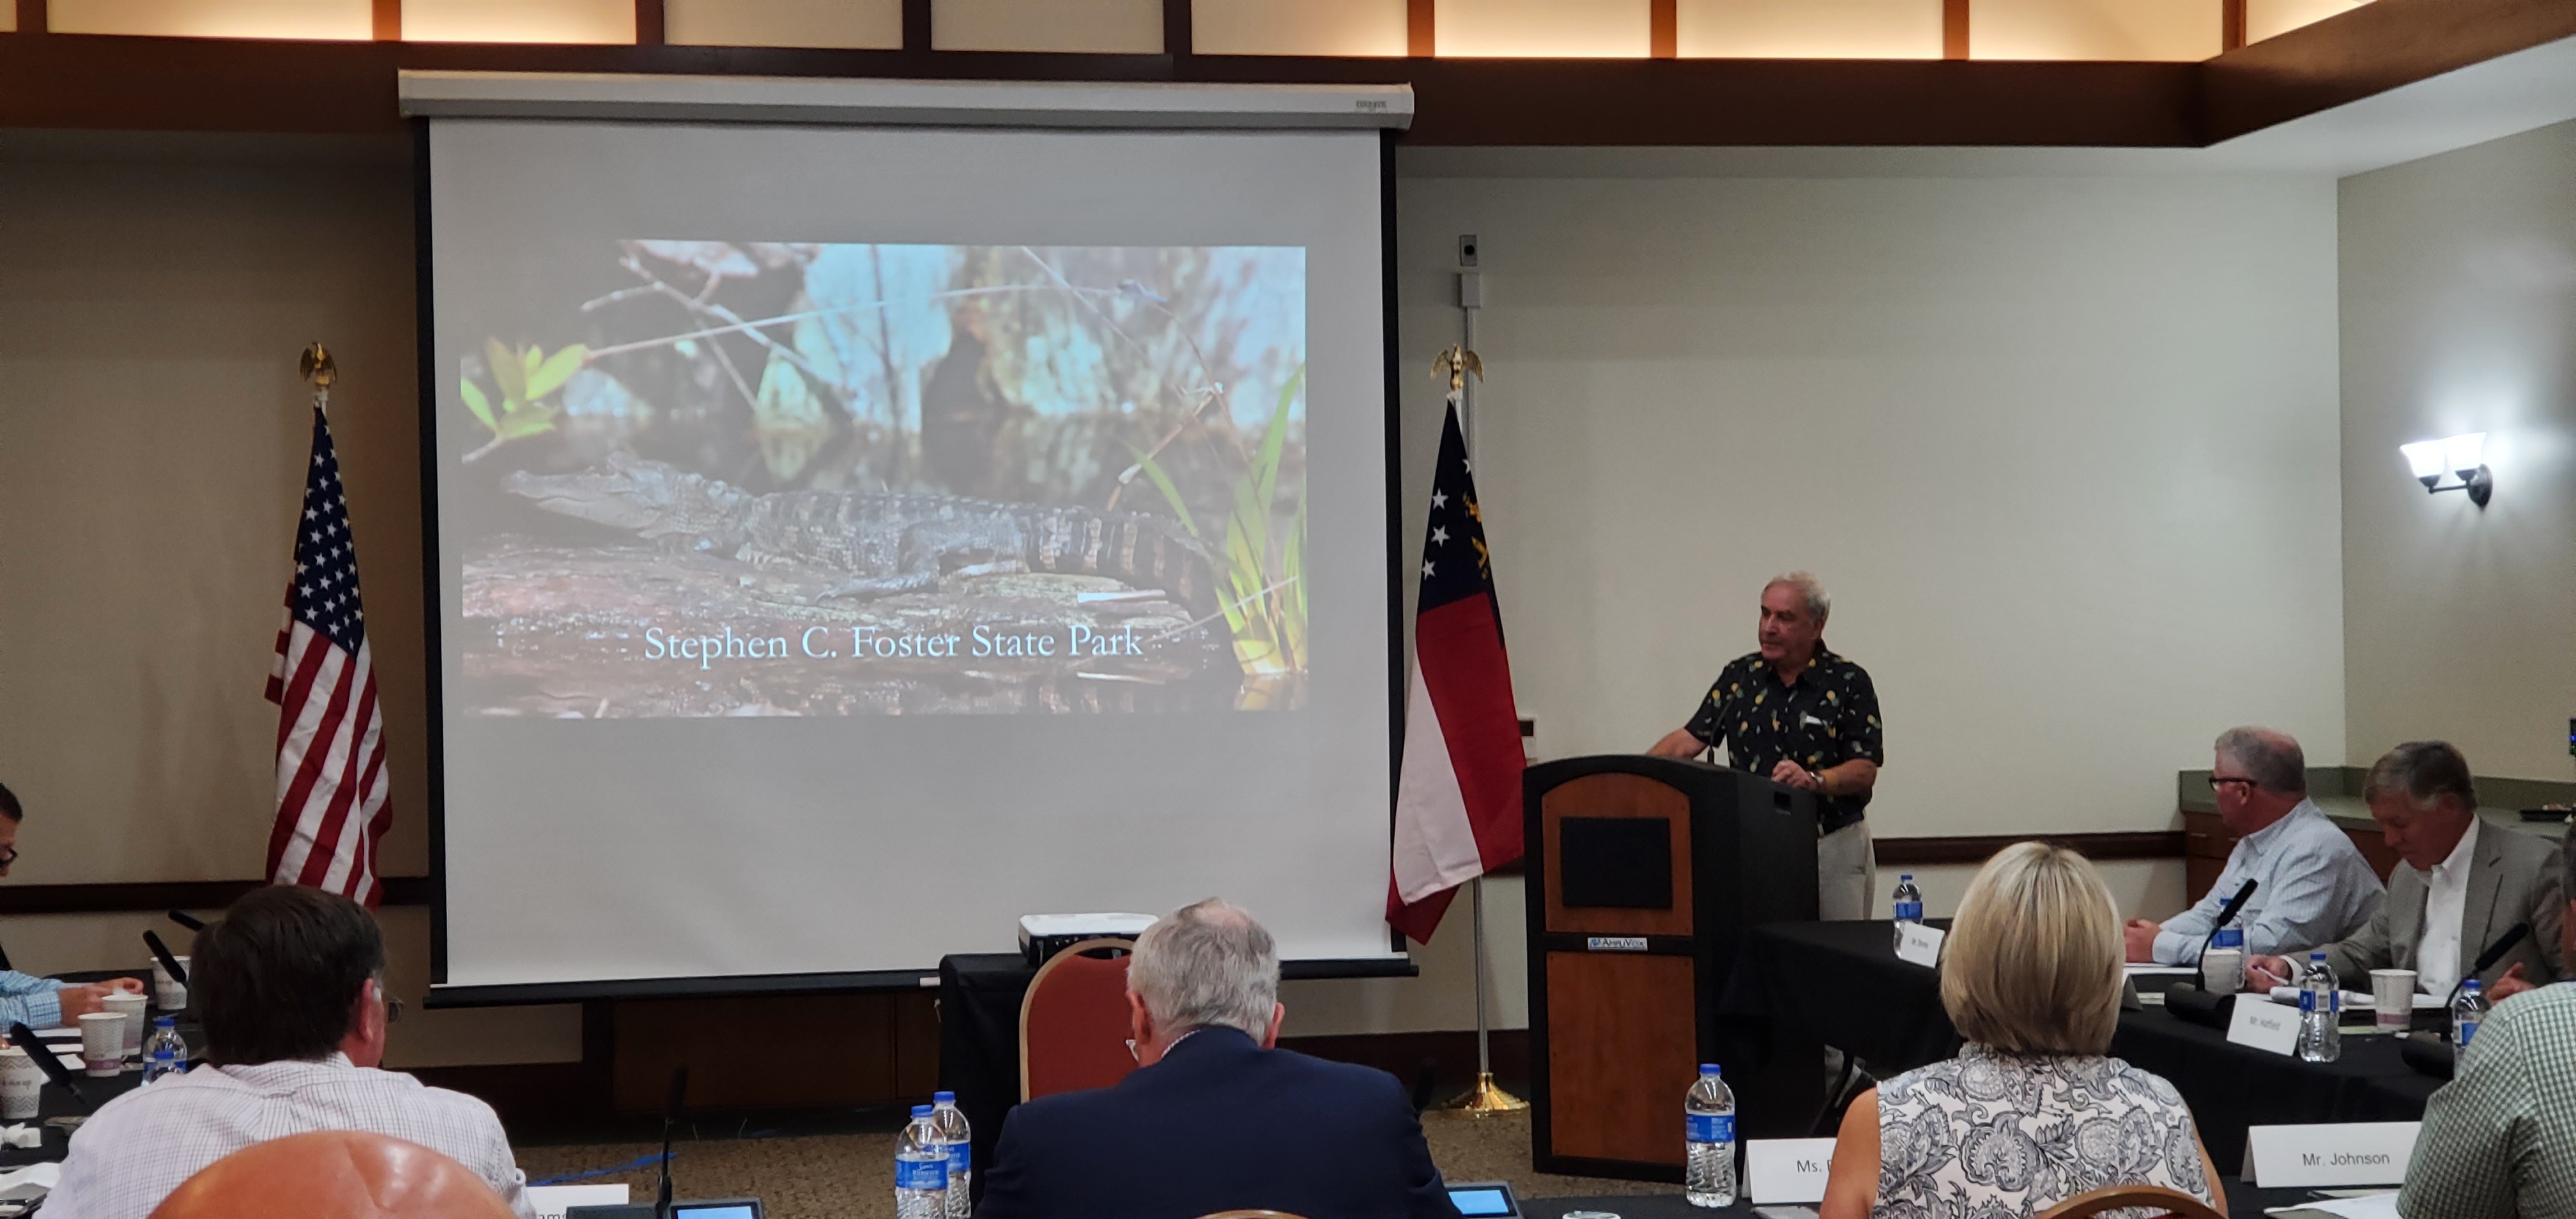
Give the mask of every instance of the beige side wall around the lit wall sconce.
[[(2349, 760), (2447, 737), (2568, 778), (2576, 714), (2576, 124), (2342, 183)], [(2496, 500), (2398, 446), (2488, 433)]]

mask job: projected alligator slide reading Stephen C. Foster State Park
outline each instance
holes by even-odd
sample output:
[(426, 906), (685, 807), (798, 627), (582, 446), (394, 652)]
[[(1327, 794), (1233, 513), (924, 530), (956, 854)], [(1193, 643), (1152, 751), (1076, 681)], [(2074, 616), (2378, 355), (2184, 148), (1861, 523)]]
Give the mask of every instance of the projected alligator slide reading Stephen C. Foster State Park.
[(1303, 706), (1303, 250), (618, 240), (489, 278), (440, 302), (469, 714)]

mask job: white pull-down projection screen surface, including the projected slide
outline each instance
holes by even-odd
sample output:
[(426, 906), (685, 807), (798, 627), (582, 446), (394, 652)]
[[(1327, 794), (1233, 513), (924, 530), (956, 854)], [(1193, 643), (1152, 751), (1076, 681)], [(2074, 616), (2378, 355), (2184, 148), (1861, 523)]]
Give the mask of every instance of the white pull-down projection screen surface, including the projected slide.
[(435, 121), (446, 984), (1386, 956), (1378, 165)]

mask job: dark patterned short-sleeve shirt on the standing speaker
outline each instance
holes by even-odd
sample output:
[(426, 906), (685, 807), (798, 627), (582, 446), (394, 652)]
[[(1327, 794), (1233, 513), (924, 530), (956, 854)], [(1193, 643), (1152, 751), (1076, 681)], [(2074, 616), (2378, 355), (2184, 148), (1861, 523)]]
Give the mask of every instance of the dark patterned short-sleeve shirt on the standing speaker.
[[(1690, 734), (1708, 745), (1726, 740), (1726, 763), (1736, 771), (1770, 776), (1780, 760), (1793, 760), (1808, 771), (1868, 758), (1886, 765), (1886, 737), (1878, 722), (1878, 688), (1868, 670), (1842, 660), (1824, 644), (1814, 660), (1798, 670), (1798, 680), (1780, 686), (1762, 652), (1736, 657), (1708, 686), (1700, 714), (1690, 716)], [(1870, 807), (1870, 794), (1832, 796), (1832, 814), (1821, 830), (1832, 832), (1860, 820)]]

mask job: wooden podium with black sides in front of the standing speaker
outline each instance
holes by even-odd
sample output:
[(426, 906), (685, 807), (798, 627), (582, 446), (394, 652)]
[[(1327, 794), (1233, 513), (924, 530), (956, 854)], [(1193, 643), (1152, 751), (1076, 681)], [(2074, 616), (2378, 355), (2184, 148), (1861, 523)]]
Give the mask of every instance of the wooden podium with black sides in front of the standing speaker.
[(1814, 1054), (1728, 1062), (1718, 995), (1759, 923), (1816, 917), (1816, 796), (1718, 765), (1602, 755), (1522, 778), (1530, 1142), (1540, 1173), (1682, 1180), (1682, 1093), (1726, 1067), (1739, 1134), (1806, 1134)]

